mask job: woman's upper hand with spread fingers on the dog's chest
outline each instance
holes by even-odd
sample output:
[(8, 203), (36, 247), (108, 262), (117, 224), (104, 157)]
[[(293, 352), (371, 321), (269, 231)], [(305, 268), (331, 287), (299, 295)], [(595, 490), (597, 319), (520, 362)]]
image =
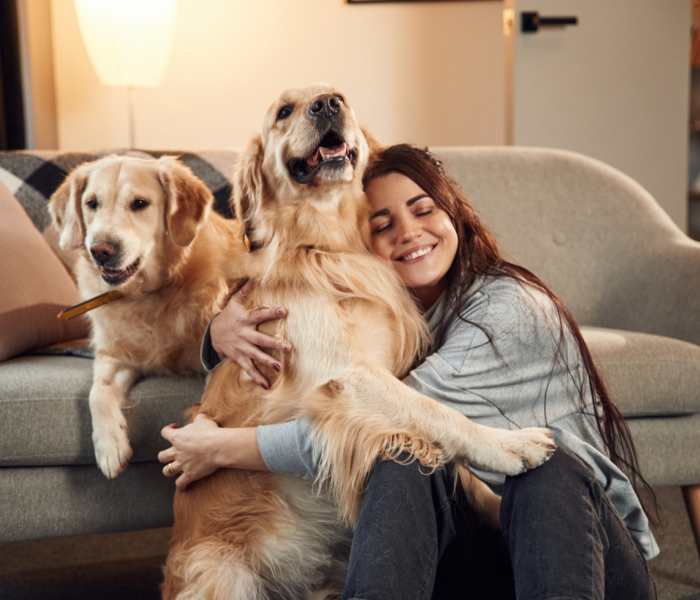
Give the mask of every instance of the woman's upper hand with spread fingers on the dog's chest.
[(271, 319), (284, 317), (287, 311), (284, 307), (278, 306), (248, 312), (243, 305), (254, 285), (254, 281), (250, 279), (231, 296), (228, 304), (212, 320), (209, 332), (211, 344), (220, 358), (226, 357), (238, 363), (256, 383), (269, 389), (270, 383), (255, 368), (253, 361), (279, 372), (282, 368), (280, 363), (260, 348), (276, 348), (282, 352), (291, 352), (292, 346), (289, 342), (260, 333), (258, 325)]

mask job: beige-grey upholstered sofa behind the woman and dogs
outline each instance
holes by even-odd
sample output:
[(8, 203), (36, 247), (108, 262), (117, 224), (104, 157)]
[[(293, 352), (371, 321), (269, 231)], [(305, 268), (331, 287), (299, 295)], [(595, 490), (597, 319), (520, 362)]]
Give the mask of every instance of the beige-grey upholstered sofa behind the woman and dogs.
[[(536, 148), (435, 150), (513, 260), (539, 275), (582, 326), (628, 417), (646, 478), (683, 486), (699, 536), (700, 244), (636, 182), (590, 158)], [(74, 166), (75, 156), (40, 158)], [(183, 155), (222, 206), (235, 157)], [(0, 179), (20, 177), (12, 158), (0, 153)], [(47, 221), (35, 196), (27, 210), (41, 229)], [(174, 488), (156, 462), (158, 432), (182, 422), (203, 382), (149, 377), (134, 387), (126, 415), (135, 454), (108, 481), (92, 454), (91, 376), (91, 361), (75, 356), (0, 363), (0, 541), (171, 523)]]

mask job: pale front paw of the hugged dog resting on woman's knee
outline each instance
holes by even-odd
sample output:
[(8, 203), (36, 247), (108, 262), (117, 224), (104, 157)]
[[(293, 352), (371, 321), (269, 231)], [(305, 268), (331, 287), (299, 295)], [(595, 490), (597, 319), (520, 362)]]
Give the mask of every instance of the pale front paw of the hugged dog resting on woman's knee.
[[(529, 469), (539, 467), (557, 449), (552, 433), (543, 427), (528, 427), (510, 431), (494, 429), (494, 442), (489, 444), (489, 452), (481, 460), (473, 461), (475, 466), (489, 471), (519, 475)], [(485, 448), (484, 448), (485, 449)]]

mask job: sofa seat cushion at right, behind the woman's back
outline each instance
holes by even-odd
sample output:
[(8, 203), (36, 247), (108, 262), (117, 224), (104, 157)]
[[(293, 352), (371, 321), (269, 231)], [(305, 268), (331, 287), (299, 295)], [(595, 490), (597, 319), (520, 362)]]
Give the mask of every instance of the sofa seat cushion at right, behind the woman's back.
[(625, 417), (700, 413), (700, 346), (599, 327), (581, 333)]

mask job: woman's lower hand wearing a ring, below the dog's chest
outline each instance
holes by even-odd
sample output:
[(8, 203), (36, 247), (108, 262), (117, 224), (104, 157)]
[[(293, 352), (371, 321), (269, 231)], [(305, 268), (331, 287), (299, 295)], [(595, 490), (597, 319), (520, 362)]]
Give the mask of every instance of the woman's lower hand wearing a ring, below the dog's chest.
[(158, 460), (167, 463), (163, 474), (177, 477), (175, 485), (184, 490), (193, 481), (216, 471), (222, 466), (218, 461), (218, 432), (216, 422), (203, 414), (182, 429), (176, 424), (163, 427), (160, 434), (172, 444), (171, 448), (158, 453)]

